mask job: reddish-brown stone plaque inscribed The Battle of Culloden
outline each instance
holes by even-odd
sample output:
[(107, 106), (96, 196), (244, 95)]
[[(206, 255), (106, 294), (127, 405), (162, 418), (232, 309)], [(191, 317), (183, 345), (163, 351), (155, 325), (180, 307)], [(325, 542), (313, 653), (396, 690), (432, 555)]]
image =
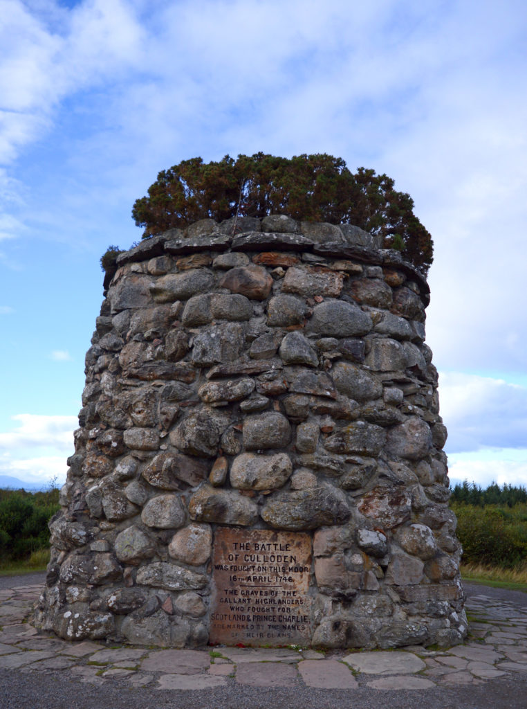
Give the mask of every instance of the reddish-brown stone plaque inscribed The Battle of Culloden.
[(220, 528), (212, 563), (211, 644), (310, 642), (310, 535)]

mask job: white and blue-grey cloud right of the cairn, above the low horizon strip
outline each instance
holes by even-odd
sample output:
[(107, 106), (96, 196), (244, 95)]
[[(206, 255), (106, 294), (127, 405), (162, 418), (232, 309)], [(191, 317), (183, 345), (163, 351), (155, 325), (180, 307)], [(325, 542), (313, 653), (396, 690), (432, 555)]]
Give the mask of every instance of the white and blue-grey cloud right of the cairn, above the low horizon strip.
[(448, 454), (526, 445), (526, 387), (487, 376), (441, 372), (439, 393)]

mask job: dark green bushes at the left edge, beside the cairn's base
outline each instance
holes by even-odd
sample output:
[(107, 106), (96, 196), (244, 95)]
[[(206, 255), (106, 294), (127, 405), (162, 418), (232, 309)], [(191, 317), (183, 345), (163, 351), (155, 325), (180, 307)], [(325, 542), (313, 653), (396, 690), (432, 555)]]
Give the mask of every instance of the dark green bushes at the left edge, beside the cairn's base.
[(30, 557), (50, 545), (47, 523), (59, 509), (58, 490), (26, 493), (0, 490), (0, 560)]

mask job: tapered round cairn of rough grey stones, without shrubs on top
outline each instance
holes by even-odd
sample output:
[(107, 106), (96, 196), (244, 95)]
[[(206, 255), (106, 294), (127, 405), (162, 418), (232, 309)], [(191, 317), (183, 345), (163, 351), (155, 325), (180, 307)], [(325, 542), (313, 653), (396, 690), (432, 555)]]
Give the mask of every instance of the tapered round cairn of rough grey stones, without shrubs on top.
[[(298, 532), (309, 545), (303, 644), (463, 640), (429, 287), (380, 246), (352, 225), (271, 215), (200, 220), (118, 256), (50, 523), (39, 627), (69, 640), (217, 642), (217, 535), (266, 534), (266, 549), (288, 549)], [(297, 636), (280, 637), (271, 644)]]

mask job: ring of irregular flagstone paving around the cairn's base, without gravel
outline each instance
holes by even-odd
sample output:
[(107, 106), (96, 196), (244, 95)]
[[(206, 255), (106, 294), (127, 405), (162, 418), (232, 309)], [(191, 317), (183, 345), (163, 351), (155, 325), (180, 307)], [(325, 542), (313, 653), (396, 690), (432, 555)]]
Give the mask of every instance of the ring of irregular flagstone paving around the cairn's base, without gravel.
[(229, 683), (271, 688), (304, 683), (350, 692), (360, 686), (424, 690), (527, 675), (527, 603), (522, 607), (485, 593), (467, 601), (470, 637), (463, 645), (328, 653), (295, 647), (176, 650), (65, 642), (28, 623), (39, 593), (40, 585), (0, 590), (0, 667), (67, 674), (95, 685), (118, 679), (133, 687), (190, 691)]

